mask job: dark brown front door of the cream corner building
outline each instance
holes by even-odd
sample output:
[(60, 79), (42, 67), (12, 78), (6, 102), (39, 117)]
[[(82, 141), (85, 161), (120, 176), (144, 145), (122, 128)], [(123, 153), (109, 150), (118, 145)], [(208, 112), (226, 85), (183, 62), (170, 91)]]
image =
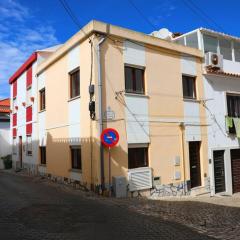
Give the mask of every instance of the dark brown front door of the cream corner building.
[(201, 186), (200, 146), (201, 142), (189, 142), (191, 188)]

